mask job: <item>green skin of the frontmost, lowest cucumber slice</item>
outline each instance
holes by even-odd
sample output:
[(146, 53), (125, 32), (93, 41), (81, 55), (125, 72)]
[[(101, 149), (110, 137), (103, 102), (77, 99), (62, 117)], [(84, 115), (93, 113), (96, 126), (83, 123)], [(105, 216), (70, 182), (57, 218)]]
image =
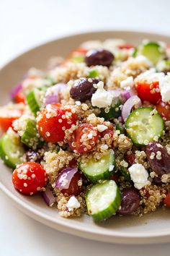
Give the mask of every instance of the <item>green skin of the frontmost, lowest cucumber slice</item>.
[[(89, 192), (87, 192), (86, 194), (86, 200), (88, 200)], [(88, 214), (96, 222), (105, 221), (107, 220), (107, 218), (110, 218), (111, 216), (115, 215), (116, 211), (120, 208), (121, 201), (122, 201), (122, 195), (120, 193), (120, 189), (117, 187), (115, 200), (114, 202), (112, 202), (111, 205), (109, 205), (107, 209), (102, 210), (100, 213), (95, 213), (95, 214), (88, 213)]]

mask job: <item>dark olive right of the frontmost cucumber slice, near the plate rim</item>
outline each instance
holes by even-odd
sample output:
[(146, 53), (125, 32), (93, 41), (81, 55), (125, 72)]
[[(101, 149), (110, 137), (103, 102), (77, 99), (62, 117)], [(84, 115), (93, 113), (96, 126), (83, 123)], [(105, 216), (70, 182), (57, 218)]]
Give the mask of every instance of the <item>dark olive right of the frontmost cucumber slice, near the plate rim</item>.
[(122, 192), (121, 209), (117, 214), (128, 215), (138, 209), (140, 203), (140, 194), (137, 189), (125, 189)]

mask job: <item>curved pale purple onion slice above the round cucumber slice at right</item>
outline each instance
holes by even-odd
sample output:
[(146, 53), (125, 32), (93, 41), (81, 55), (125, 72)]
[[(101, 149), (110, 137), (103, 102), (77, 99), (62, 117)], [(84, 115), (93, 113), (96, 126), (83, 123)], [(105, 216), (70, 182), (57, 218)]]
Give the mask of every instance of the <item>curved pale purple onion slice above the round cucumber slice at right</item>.
[(141, 106), (142, 102), (140, 98), (137, 95), (134, 95), (128, 99), (128, 101), (125, 102), (125, 104), (122, 106), (122, 119), (125, 121), (125, 119), (128, 118), (130, 111), (132, 110), (133, 106), (138, 105)]

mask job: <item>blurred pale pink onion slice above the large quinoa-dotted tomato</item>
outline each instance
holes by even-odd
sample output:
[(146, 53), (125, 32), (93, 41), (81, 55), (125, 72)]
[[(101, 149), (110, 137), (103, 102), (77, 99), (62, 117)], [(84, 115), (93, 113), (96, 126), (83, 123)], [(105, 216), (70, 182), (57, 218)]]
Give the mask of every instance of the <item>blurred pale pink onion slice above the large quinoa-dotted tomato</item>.
[(57, 85), (53, 85), (52, 87), (48, 88), (45, 95), (45, 106), (47, 106), (48, 104), (60, 103), (61, 90), (66, 89), (66, 87), (66, 84), (58, 83)]

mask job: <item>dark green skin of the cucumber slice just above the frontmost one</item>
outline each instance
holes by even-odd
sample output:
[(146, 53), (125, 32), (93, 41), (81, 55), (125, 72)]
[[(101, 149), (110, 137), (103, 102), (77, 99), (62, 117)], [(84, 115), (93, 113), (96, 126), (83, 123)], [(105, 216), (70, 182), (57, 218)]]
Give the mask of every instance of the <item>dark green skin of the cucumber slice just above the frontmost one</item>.
[(81, 168), (81, 162), (78, 163), (78, 166), (79, 166), (79, 169), (82, 171), (82, 173), (86, 176), (86, 178), (89, 180), (89, 182), (95, 184), (97, 182), (99, 182), (99, 180), (105, 180), (105, 179), (109, 179), (116, 171), (117, 169), (117, 166), (116, 166), (116, 161), (115, 161), (115, 153), (113, 155), (113, 161), (112, 161), (112, 164), (115, 166), (113, 168), (112, 171), (109, 171), (107, 169), (107, 171), (104, 171), (104, 173), (102, 174), (98, 174), (96, 176), (91, 176), (91, 175), (88, 175), (86, 174), (86, 171), (84, 171), (84, 168)]

